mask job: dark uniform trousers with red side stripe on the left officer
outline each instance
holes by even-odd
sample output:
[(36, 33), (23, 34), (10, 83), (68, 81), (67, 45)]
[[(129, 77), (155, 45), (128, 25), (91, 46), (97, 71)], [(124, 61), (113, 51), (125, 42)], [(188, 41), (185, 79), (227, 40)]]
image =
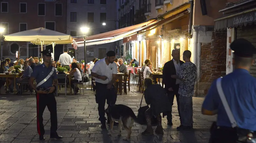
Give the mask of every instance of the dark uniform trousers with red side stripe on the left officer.
[(37, 132), (39, 135), (44, 135), (44, 124), (43, 124), (43, 113), (44, 109), (47, 106), (51, 115), (51, 133), (57, 131), (57, 103), (55, 100), (54, 93), (49, 94), (38, 94), (36, 93), (37, 98)]

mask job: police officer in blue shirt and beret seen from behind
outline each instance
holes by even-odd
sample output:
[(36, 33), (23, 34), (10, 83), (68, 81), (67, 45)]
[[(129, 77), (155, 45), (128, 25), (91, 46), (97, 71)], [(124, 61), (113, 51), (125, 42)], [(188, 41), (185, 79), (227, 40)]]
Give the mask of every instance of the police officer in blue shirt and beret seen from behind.
[[(222, 78), (221, 87), (237, 126), (248, 132), (256, 131), (256, 78), (249, 73), (254, 63), (253, 54), (256, 53), (256, 48), (243, 38), (233, 41), (230, 48), (234, 51), (234, 71)], [(218, 114), (217, 123), (211, 128), (210, 142), (236, 142), (237, 131), (231, 126), (217, 91), (216, 80), (205, 97), (202, 114)]]

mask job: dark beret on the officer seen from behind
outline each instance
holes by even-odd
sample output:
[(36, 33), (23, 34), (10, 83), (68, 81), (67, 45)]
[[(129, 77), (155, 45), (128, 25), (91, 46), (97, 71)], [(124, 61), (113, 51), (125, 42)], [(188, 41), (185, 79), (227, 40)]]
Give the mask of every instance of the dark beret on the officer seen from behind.
[(255, 46), (244, 38), (234, 40), (230, 44), (230, 48), (234, 51), (234, 54), (239, 57), (251, 58), (256, 54)]

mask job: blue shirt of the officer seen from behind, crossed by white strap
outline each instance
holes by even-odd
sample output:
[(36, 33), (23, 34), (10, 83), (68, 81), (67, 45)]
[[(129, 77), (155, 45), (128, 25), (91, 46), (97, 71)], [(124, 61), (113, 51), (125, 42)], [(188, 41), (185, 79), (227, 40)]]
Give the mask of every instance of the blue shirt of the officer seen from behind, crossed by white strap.
[[(236, 69), (224, 76), (221, 84), (238, 127), (256, 131), (256, 78), (245, 69)], [(217, 91), (216, 80), (202, 107), (209, 111), (218, 109), (217, 125), (231, 127)]]

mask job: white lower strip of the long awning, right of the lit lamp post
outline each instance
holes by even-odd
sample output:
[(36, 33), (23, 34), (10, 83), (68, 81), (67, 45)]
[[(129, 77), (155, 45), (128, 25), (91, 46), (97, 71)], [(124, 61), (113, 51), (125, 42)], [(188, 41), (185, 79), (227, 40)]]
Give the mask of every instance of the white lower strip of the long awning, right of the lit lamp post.
[[(89, 46), (89, 45), (100, 45), (100, 44), (106, 44), (106, 43), (116, 42), (116, 41), (118, 41), (118, 40), (122, 40), (122, 39), (123, 39), (124, 37), (126, 37), (126, 36), (133, 35), (134, 33), (137, 33), (137, 32), (140, 31), (141, 29), (147, 28), (147, 27), (149, 27), (150, 25), (151, 25), (151, 24), (148, 24), (148, 25), (145, 25), (145, 26), (143, 26), (143, 27), (130, 30), (130, 31), (125, 32), (125, 33), (123, 33), (123, 34), (116, 35), (115, 37), (113, 37), (113, 38), (111, 38), (111, 39), (102, 40), (102, 41), (96, 41), (96, 42), (87, 42), (87, 41), (86, 41), (85, 44), (86, 44), (86, 46)], [(78, 45), (78, 47), (84, 46), (84, 41), (83, 41), (83, 42), (78, 42), (77, 45)]]

